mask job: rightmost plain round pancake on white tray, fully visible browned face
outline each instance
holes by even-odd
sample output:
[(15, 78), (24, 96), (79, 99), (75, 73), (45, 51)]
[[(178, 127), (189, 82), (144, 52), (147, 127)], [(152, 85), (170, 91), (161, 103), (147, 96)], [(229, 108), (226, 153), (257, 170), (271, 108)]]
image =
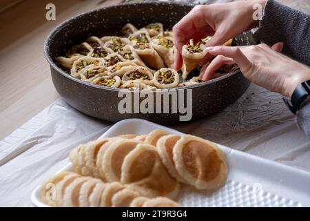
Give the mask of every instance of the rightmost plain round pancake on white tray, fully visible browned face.
[(174, 145), (173, 153), (178, 174), (196, 189), (217, 189), (225, 183), (225, 155), (216, 144), (183, 135)]

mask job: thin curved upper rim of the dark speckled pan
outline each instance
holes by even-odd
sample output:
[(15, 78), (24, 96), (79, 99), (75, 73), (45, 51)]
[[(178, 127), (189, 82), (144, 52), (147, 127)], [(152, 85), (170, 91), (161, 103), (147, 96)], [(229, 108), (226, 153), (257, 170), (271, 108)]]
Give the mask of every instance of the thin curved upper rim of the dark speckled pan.
[[(65, 21), (62, 21), (61, 23), (59, 23), (46, 37), (45, 41), (44, 41), (44, 56), (45, 59), (48, 61), (48, 63), (50, 64), (51, 68), (54, 68), (54, 70), (56, 70), (57, 74), (61, 74), (64, 77), (67, 77), (70, 80), (76, 81), (76, 83), (79, 84), (83, 84), (84, 86), (90, 86), (92, 88), (98, 88), (101, 90), (111, 90), (111, 91), (121, 91), (124, 90), (123, 88), (110, 88), (110, 87), (105, 87), (105, 86), (99, 86), (96, 84), (92, 84), (90, 82), (87, 81), (82, 81), (81, 79), (77, 79), (76, 77), (73, 77), (71, 75), (69, 75), (68, 73), (65, 73), (64, 70), (62, 70), (59, 66), (57, 66), (57, 64), (54, 62), (54, 60), (52, 59), (52, 57), (50, 56), (50, 48), (48, 46), (48, 44), (50, 44), (50, 41), (52, 41), (52, 38), (54, 37), (54, 35), (56, 35), (57, 32), (59, 32), (66, 24), (70, 23), (71, 21), (73, 21), (74, 19), (77, 19), (79, 17), (83, 17), (85, 15), (90, 15), (94, 12), (98, 12), (101, 10), (108, 10), (110, 8), (118, 8), (118, 7), (122, 7), (122, 6), (136, 6), (136, 5), (174, 5), (174, 6), (186, 6), (186, 7), (194, 7), (195, 5), (192, 3), (184, 3), (184, 2), (165, 2), (165, 1), (148, 1), (148, 2), (138, 2), (138, 3), (121, 3), (119, 5), (113, 5), (113, 6), (105, 6), (105, 7), (101, 7), (101, 8), (96, 8), (94, 10), (90, 10), (87, 12), (82, 12), (74, 17), (71, 17), (69, 19), (65, 19)], [(168, 88), (168, 89), (174, 89), (174, 90), (187, 90), (187, 89), (192, 89), (192, 88), (198, 88), (201, 86), (207, 86), (209, 84), (214, 84), (217, 81), (221, 81), (223, 79), (227, 79), (229, 77), (231, 77), (232, 75), (236, 75), (240, 73), (240, 69), (238, 68), (237, 70), (234, 70), (231, 73), (227, 73), (221, 77), (217, 77), (215, 79), (211, 79), (209, 81), (200, 83), (200, 84), (194, 84), (191, 86), (184, 86), (184, 87), (177, 87), (177, 88)], [(167, 89), (166, 89), (167, 90)], [(157, 93), (162, 93), (166, 90), (163, 90), (161, 88), (157, 88), (156, 90), (151, 90), (152, 92), (157, 92)], [(139, 92), (143, 92), (143, 90), (131, 90), (132, 92), (134, 91), (139, 91)], [(147, 90), (150, 91), (150, 90)]]

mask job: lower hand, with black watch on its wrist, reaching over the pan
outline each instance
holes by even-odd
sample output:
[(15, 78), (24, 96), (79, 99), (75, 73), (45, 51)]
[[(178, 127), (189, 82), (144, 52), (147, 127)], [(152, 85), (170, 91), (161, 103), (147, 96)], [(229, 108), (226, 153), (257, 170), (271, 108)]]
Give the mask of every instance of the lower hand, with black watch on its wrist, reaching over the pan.
[(298, 84), (310, 79), (310, 69), (282, 55), (282, 47), (279, 42), (271, 48), (266, 44), (208, 48), (209, 54), (218, 56), (203, 68), (200, 77), (211, 79), (220, 66), (236, 63), (242, 74), (254, 84), (291, 97)]

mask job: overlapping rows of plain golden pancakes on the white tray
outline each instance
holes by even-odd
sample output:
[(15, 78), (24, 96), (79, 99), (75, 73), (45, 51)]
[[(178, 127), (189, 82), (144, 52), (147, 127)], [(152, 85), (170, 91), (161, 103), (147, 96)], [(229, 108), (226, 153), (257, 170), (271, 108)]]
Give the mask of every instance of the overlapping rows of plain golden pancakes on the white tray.
[(81, 144), (70, 153), (73, 172), (41, 187), (50, 206), (181, 206), (180, 184), (215, 190), (226, 181), (227, 165), (216, 144), (193, 135), (155, 130)]

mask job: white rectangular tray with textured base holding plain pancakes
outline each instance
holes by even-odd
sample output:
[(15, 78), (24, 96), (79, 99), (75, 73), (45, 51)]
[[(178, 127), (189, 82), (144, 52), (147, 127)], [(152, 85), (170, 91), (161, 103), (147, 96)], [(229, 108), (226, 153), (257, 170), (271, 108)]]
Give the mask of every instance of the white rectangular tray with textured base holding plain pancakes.
[[(143, 119), (125, 119), (100, 138), (146, 134), (156, 128), (183, 134)], [(178, 198), (183, 206), (310, 206), (309, 172), (218, 146), (225, 152), (229, 169), (225, 186), (214, 193), (184, 186)], [(71, 163), (59, 173), (61, 171), (72, 171)], [(39, 186), (34, 189), (31, 200), (36, 206), (48, 206), (39, 198)]]

